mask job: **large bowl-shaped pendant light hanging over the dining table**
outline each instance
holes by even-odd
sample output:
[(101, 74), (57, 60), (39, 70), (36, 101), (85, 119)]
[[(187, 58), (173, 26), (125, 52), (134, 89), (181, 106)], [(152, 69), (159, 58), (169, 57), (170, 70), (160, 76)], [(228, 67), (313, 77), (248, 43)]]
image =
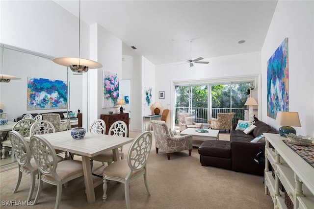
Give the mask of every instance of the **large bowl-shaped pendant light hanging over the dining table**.
[(59, 57), (52, 60), (54, 63), (69, 67), (73, 72), (87, 72), (88, 69), (97, 69), (103, 67), (102, 64), (93, 60), (80, 58), (80, 0), (78, 16), (78, 58)]

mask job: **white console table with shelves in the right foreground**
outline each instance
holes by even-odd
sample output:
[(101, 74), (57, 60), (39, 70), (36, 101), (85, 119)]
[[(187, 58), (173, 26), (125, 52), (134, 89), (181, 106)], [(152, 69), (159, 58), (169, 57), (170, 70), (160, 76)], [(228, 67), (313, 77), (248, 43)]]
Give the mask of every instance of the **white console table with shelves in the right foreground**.
[[(287, 208), (285, 193), (279, 189), (279, 181), (285, 187), (294, 209), (314, 209), (314, 167), (285, 144), (283, 139), (287, 138), (269, 133), (264, 133), (264, 136), (265, 194), (268, 189), (274, 209)], [(268, 162), (274, 168), (275, 180), (268, 169)]]

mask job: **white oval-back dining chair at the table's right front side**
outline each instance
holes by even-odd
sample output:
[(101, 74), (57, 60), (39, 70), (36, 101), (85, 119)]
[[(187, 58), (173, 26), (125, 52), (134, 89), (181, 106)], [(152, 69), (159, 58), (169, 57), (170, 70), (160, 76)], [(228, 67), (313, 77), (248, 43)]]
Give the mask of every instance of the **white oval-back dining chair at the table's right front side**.
[(143, 132), (137, 136), (128, 152), (127, 159), (117, 161), (109, 164), (104, 168), (104, 184), (103, 184), (103, 200), (107, 199), (107, 183), (108, 180), (120, 182), (124, 184), (124, 193), (126, 199), (126, 205), (128, 209), (131, 209), (130, 205), (130, 195), (129, 195), (129, 184), (138, 179), (139, 177), (144, 177), (144, 183), (148, 195), (150, 191), (147, 182), (147, 166), (146, 162), (148, 160), (149, 154), (152, 148), (152, 134), (149, 131)]

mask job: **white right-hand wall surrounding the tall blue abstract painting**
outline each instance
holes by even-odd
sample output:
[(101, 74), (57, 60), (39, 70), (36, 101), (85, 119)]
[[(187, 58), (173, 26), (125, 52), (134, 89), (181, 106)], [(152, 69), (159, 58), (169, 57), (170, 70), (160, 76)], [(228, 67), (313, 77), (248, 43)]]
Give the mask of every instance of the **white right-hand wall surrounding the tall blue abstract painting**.
[(263, 119), (274, 126), (267, 114), (267, 61), (288, 37), (289, 111), (299, 112), (302, 127), (297, 134), (314, 137), (314, 1), (284, 1), (277, 4), (262, 47)]

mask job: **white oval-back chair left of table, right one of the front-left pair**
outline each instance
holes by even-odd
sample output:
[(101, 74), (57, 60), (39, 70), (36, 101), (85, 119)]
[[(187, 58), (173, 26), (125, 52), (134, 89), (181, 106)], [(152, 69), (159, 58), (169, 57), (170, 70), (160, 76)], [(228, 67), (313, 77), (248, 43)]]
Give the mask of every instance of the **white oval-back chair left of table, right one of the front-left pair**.
[(62, 185), (83, 176), (83, 165), (81, 161), (75, 160), (58, 163), (58, 157), (54, 148), (43, 136), (34, 135), (30, 137), (31, 152), (39, 170), (39, 185), (34, 205), (38, 202), (43, 182), (46, 182), (57, 186), (54, 208), (58, 209), (61, 201)]

